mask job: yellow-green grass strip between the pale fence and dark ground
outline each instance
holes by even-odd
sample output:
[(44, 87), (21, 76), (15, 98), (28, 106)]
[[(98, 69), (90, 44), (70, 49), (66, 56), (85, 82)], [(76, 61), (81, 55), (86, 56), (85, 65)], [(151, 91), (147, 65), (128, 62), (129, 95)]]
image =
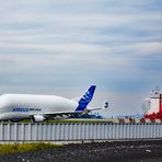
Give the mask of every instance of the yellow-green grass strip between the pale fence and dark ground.
[(0, 144), (0, 154), (20, 153), (32, 150), (40, 150), (47, 148), (58, 148), (62, 144), (53, 143), (14, 143), (14, 144)]

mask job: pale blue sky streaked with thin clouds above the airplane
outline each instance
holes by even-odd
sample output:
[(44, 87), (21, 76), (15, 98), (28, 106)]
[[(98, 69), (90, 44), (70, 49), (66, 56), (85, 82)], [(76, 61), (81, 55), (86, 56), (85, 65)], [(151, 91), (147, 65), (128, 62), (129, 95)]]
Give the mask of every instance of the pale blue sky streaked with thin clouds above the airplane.
[(140, 114), (162, 88), (161, 0), (0, 0), (0, 94), (77, 97)]

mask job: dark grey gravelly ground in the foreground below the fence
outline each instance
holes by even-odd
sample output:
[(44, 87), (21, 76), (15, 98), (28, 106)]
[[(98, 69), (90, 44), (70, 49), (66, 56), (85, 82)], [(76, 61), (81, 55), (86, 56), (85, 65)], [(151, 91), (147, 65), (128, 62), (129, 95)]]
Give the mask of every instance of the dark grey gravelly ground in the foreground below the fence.
[(1, 154), (0, 162), (161, 162), (162, 140), (69, 143), (23, 153)]

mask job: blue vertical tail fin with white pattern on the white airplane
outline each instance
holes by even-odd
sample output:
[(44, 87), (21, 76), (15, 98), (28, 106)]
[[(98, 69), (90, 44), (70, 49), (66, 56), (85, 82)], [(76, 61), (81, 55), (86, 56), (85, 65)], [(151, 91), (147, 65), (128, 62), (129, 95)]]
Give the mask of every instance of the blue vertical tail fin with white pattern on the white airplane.
[(91, 85), (89, 90), (81, 96), (79, 100), (79, 105), (76, 111), (84, 111), (86, 108), (88, 104), (91, 102), (94, 91), (95, 91), (96, 85)]

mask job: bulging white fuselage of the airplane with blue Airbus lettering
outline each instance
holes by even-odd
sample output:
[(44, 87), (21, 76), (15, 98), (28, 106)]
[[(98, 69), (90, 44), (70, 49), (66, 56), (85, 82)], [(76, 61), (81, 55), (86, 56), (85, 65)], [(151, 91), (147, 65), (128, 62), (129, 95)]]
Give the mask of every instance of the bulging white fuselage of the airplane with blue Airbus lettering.
[(3, 94), (0, 96), (0, 120), (73, 113), (77, 107), (78, 102), (56, 95)]

